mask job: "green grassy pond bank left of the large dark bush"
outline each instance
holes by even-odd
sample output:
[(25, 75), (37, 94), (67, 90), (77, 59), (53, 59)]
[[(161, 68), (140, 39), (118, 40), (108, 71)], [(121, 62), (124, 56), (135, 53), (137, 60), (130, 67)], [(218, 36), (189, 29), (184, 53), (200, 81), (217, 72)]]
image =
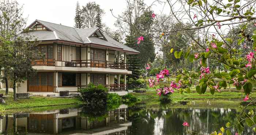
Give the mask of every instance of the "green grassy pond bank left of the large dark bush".
[[(35, 108), (35, 107), (48, 107), (56, 105), (80, 105), (83, 104), (80, 98), (54, 98), (54, 97), (43, 97), (43, 96), (31, 96), (29, 99), (18, 99), (14, 101), (12, 97), (4, 98), (6, 104), (0, 105), (1, 111), (8, 111), (8, 109), (19, 110), (24, 108)], [(42, 110), (45, 111), (46, 108)], [(28, 110), (28, 109), (26, 109)], [(35, 109), (33, 109), (35, 110)]]

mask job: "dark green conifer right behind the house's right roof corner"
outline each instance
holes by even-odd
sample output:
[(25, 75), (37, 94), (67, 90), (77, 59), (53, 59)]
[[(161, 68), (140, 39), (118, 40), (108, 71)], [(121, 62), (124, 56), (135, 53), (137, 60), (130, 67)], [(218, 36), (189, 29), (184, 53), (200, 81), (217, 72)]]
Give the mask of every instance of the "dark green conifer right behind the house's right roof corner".
[[(125, 43), (126, 46), (131, 47), (133, 49), (137, 49), (134, 36), (128, 35), (125, 39), (125, 42), (126, 42)], [(140, 76), (140, 70), (139, 70), (140, 61), (138, 59), (138, 54), (127, 55), (127, 65), (128, 65), (129, 71), (132, 71), (132, 74), (127, 76), (127, 80), (128, 80), (127, 85), (128, 85), (130, 78), (132, 78), (133, 80), (137, 80), (139, 79), (139, 76)]]

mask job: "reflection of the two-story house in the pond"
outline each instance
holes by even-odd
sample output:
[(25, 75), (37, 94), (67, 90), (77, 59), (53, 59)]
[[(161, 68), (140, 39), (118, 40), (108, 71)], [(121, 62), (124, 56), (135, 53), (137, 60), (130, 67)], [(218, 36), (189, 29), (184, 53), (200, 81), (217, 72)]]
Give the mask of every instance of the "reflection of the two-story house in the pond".
[(80, 109), (64, 109), (30, 114), (14, 114), (0, 120), (0, 132), (6, 135), (15, 133), (34, 134), (125, 134), (127, 123), (127, 105), (121, 105), (114, 111), (108, 111), (101, 120), (91, 120), (79, 116)]

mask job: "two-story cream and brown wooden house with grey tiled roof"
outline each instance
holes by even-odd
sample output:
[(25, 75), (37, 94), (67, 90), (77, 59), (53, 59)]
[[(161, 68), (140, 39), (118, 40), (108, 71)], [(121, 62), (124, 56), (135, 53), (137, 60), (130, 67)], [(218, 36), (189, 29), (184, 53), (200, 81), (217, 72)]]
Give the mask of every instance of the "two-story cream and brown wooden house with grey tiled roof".
[[(79, 29), (41, 20), (35, 20), (28, 28), (29, 35), (39, 43), (35, 50), (45, 57), (32, 63), (38, 73), (20, 84), (18, 93), (58, 96), (63, 90), (77, 93), (78, 88), (90, 82), (105, 85), (110, 92), (120, 95), (127, 93), (126, 75), (132, 72), (127, 70), (126, 55), (138, 51), (104, 35), (99, 28)], [(120, 76), (124, 78), (123, 84)]]

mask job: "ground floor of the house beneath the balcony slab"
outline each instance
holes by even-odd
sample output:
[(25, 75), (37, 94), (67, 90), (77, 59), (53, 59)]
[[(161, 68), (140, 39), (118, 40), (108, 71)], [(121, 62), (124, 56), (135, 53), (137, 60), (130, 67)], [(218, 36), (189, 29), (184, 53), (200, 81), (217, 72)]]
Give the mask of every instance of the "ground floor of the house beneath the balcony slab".
[[(104, 85), (110, 93), (127, 94), (126, 74), (85, 73), (85, 72), (38, 72), (24, 83), (18, 84), (17, 93), (60, 96), (60, 91), (68, 90), (69, 94), (78, 93), (79, 88), (85, 88), (89, 83)], [(1, 84), (5, 88), (4, 83)]]

